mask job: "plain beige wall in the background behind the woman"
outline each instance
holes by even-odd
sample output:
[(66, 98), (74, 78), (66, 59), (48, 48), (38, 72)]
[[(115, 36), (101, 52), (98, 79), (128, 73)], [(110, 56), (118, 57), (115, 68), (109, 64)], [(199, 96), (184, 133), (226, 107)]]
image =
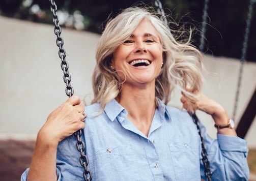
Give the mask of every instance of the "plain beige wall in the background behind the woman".
[[(91, 76), (99, 35), (63, 29), (69, 71), (75, 94), (87, 103), (93, 97)], [(0, 139), (35, 139), (47, 115), (67, 97), (58, 48), (52, 25), (20, 21), (0, 16)], [(238, 45), (241, 46), (241, 45)], [(239, 61), (205, 56), (205, 67), (218, 74), (206, 77), (204, 93), (219, 101), (232, 115)], [(256, 86), (256, 64), (246, 63), (242, 79), (237, 117), (247, 105)], [(170, 105), (181, 107), (177, 90)], [(198, 115), (208, 133), (216, 138), (213, 121), (205, 113)], [(256, 147), (256, 121), (246, 140)]]

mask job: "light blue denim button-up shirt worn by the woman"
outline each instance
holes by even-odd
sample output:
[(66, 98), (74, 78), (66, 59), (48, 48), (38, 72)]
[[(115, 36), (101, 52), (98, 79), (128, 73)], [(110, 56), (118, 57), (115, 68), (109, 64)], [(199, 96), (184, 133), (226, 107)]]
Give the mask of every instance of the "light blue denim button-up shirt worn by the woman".
[[(159, 101), (160, 102), (160, 101)], [(201, 180), (206, 179), (201, 142), (190, 115), (159, 103), (148, 137), (128, 119), (128, 112), (116, 101), (85, 108), (88, 115), (83, 135), (93, 180)], [(248, 180), (246, 141), (217, 134), (211, 139), (200, 124), (213, 180)], [(84, 140), (84, 136), (82, 139)], [(58, 180), (83, 180), (76, 138), (58, 145)], [(22, 174), (26, 180), (28, 169)]]

